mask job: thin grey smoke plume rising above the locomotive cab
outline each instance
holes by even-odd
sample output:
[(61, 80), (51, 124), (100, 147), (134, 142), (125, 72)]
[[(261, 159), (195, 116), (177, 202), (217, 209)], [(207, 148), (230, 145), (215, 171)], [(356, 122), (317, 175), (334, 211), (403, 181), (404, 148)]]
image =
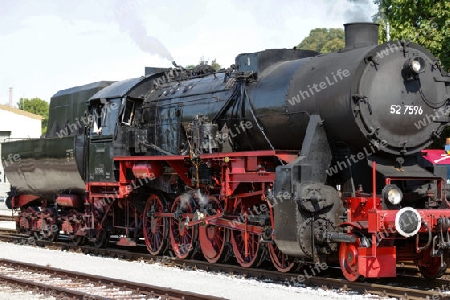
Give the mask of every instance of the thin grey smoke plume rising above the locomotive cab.
[(116, 2), (114, 15), (121, 30), (127, 32), (143, 51), (158, 54), (162, 58), (173, 61), (169, 50), (156, 37), (147, 34), (147, 29), (136, 13), (139, 2), (141, 1)]

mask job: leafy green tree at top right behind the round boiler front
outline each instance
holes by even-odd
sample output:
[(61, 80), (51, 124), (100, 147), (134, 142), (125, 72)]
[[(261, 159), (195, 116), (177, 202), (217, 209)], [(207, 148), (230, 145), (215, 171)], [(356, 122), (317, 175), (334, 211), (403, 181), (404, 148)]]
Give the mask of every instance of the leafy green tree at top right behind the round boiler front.
[[(438, 57), (446, 70), (450, 68), (450, 1), (374, 0), (375, 17), (389, 22), (392, 40), (418, 43)], [(385, 32), (382, 41), (386, 41)]]

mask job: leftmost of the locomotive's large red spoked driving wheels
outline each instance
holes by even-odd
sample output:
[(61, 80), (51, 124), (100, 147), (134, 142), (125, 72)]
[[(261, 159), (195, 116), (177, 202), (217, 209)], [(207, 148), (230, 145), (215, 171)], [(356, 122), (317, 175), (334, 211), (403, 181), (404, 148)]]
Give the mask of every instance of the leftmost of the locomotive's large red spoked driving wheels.
[(154, 214), (157, 212), (164, 212), (164, 206), (157, 195), (151, 194), (145, 204), (143, 226), (147, 250), (153, 255), (164, 253), (168, 246), (168, 220), (164, 217), (155, 217)]

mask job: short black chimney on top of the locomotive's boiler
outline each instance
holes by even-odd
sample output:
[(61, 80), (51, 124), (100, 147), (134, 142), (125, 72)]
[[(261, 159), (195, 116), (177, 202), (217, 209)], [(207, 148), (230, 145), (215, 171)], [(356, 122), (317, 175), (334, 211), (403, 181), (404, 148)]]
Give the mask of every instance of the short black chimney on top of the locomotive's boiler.
[(345, 28), (345, 48), (359, 48), (378, 45), (378, 24), (347, 23)]

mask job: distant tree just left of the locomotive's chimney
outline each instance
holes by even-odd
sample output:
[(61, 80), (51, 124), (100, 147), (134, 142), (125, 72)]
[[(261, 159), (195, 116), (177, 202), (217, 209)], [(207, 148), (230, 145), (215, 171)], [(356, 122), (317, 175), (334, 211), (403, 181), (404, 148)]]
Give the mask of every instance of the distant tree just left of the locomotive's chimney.
[(341, 28), (315, 28), (296, 48), (329, 53), (344, 48), (344, 39), (344, 30)]

